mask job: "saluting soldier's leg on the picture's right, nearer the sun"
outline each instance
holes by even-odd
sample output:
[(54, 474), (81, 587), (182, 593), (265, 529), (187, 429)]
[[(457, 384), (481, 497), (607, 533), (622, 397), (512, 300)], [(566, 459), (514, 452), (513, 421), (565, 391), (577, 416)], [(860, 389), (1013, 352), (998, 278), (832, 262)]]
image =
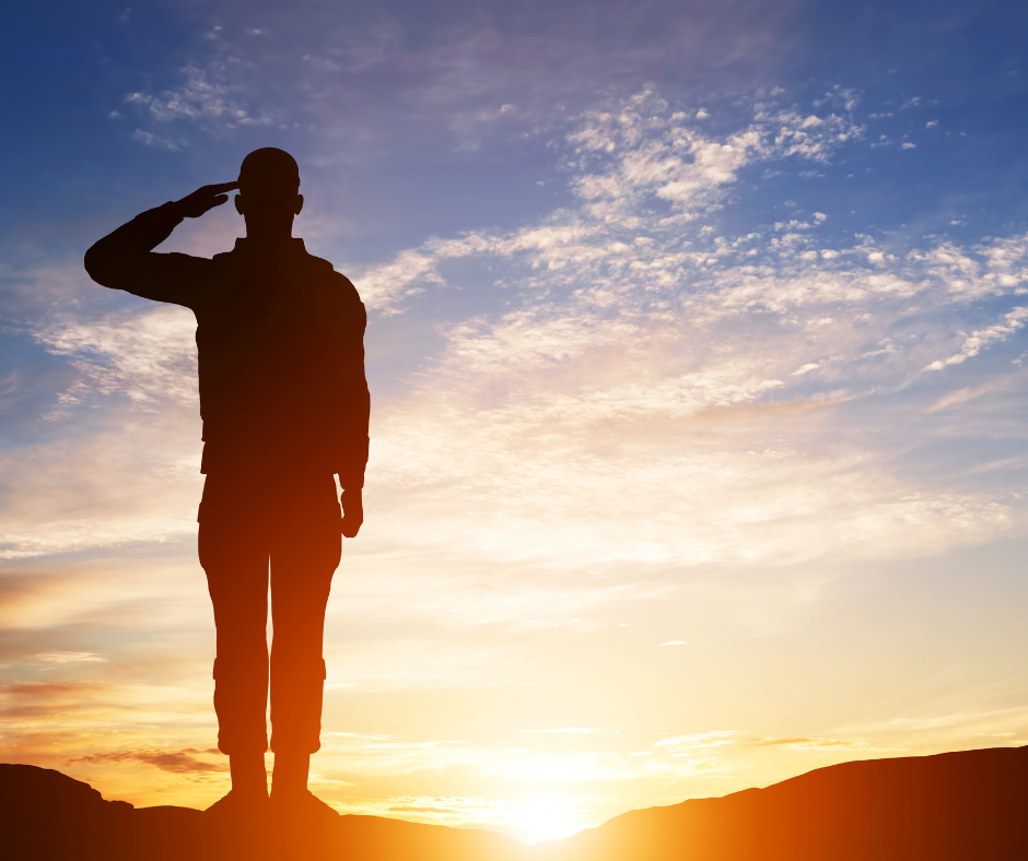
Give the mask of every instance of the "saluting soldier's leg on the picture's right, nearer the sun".
[(320, 747), (325, 606), (339, 565), (339, 503), (332, 477), (294, 488), (302, 504), (276, 530), (271, 547), (271, 748), (274, 788), (306, 786), (306, 764)]

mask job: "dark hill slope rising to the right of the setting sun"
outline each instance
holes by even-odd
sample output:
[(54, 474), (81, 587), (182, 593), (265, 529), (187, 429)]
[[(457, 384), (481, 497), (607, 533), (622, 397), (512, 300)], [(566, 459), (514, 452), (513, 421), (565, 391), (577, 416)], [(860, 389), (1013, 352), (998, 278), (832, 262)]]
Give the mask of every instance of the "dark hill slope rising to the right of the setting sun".
[(538, 861), (1028, 859), (1028, 747), (866, 759), (616, 816)]

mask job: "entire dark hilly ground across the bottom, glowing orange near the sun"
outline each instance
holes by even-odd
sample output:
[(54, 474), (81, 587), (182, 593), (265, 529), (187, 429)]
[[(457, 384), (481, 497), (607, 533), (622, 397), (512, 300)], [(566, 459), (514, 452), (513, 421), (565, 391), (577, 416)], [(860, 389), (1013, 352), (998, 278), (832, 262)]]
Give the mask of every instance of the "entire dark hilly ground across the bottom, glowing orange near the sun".
[(200, 811), (136, 810), (59, 771), (0, 765), (0, 848), (17, 861), (1025, 861), (1028, 747), (843, 763), (536, 847), (378, 816), (340, 816), (301, 844), (267, 823), (220, 833)]

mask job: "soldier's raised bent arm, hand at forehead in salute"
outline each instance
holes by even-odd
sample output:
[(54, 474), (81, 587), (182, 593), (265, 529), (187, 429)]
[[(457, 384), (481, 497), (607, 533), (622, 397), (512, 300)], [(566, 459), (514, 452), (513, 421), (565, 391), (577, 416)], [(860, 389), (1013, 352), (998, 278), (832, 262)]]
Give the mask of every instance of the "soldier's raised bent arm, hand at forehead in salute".
[(155, 253), (183, 219), (197, 219), (229, 200), (238, 182), (203, 186), (182, 200), (147, 210), (85, 252), (85, 271), (97, 284), (143, 298), (191, 307), (211, 261), (182, 253)]

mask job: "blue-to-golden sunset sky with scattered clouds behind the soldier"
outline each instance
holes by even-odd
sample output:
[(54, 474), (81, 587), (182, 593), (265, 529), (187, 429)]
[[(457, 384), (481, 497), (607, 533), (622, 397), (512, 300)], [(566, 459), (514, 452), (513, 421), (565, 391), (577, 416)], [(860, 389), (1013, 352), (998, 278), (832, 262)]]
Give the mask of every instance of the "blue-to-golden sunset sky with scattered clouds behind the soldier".
[(7, 10), (0, 759), (227, 789), (195, 320), (81, 261), (268, 145), (370, 315), (318, 795), (533, 842), (1028, 744), (1026, 35), (988, 0)]

